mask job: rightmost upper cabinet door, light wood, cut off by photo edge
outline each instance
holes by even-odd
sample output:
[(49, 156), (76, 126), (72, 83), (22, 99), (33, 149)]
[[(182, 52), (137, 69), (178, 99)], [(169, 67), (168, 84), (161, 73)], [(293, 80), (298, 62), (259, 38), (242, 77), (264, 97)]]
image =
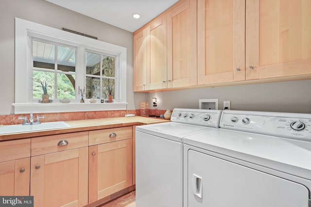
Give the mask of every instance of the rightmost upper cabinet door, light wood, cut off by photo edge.
[(246, 0), (246, 79), (311, 73), (311, 0)]

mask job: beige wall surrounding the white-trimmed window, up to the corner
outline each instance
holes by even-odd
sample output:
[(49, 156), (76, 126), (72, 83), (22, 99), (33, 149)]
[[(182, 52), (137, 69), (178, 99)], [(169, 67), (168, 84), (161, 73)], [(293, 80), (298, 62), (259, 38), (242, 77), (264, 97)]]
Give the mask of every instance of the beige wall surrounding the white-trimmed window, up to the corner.
[[(127, 48), (128, 109), (139, 108), (146, 94), (133, 93), (133, 33), (62, 8), (45, 0), (0, 0), (0, 114), (14, 113), (15, 17), (53, 28), (86, 33)], [(136, 102), (135, 102), (135, 101)], [(35, 111), (34, 111), (35, 112)]]

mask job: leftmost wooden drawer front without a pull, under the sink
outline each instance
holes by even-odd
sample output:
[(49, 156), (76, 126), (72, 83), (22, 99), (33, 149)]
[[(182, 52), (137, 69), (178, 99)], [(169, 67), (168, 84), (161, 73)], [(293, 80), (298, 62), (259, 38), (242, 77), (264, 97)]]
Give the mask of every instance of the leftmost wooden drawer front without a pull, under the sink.
[(30, 139), (0, 142), (0, 162), (29, 157)]

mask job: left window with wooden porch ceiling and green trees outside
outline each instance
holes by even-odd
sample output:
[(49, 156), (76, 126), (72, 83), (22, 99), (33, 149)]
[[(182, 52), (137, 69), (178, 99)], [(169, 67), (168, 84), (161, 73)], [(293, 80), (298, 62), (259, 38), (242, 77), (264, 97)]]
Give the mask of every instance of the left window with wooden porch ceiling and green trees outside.
[(29, 90), (32, 93), (31, 100), (41, 100), (42, 82), (47, 82), (47, 92), (51, 99), (75, 99), (76, 48), (34, 39), (32, 43), (33, 90)]

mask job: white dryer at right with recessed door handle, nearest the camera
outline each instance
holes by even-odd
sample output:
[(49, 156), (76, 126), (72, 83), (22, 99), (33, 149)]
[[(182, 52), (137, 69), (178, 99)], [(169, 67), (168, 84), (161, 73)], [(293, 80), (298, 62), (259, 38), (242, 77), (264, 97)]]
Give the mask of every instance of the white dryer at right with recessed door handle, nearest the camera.
[(310, 207), (311, 114), (223, 111), (184, 138), (185, 207)]

